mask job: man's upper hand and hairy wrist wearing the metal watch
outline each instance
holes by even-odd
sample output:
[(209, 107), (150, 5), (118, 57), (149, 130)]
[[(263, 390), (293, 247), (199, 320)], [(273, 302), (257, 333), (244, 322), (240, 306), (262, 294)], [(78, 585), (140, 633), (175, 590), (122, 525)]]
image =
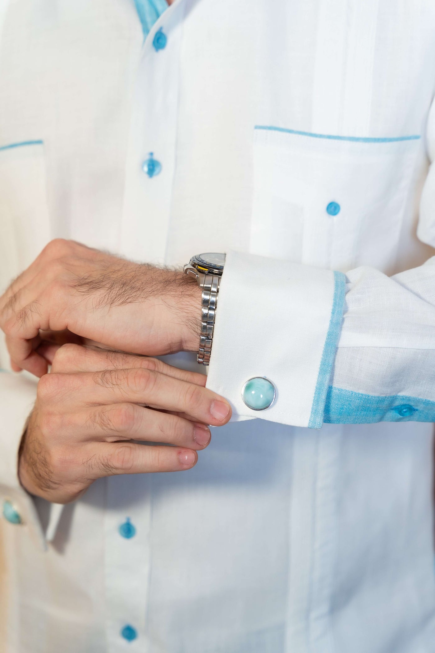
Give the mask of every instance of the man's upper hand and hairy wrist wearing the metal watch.
[(196, 351), (201, 291), (182, 272), (131, 263), (68, 240), (52, 240), (0, 297), (0, 327), (12, 368), (37, 376), (40, 330), (112, 349), (162, 355)]

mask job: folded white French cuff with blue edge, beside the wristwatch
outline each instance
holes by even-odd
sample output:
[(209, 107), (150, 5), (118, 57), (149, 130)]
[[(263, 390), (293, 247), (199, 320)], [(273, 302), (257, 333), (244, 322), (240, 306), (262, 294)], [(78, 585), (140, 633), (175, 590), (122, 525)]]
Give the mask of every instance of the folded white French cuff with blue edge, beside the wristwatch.
[[(232, 421), (322, 426), (345, 292), (341, 272), (227, 253), (207, 387), (230, 401)], [(254, 377), (276, 390), (273, 404), (260, 411), (242, 397)]]

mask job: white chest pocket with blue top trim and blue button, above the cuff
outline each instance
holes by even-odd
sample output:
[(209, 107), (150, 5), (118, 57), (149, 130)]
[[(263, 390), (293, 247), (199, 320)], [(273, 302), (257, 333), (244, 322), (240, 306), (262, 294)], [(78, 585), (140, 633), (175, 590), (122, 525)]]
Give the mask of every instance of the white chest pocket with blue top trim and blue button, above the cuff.
[[(340, 138), (257, 127), (250, 251), (346, 272), (393, 268), (419, 136)], [(407, 215), (411, 214), (411, 215)]]

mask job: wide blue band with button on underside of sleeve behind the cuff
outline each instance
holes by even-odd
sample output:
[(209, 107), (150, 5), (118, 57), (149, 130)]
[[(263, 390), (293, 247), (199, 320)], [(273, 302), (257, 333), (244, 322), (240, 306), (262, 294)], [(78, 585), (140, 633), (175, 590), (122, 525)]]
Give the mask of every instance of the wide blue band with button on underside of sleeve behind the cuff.
[(403, 394), (380, 397), (329, 386), (325, 424), (435, 422), (435, 402)]

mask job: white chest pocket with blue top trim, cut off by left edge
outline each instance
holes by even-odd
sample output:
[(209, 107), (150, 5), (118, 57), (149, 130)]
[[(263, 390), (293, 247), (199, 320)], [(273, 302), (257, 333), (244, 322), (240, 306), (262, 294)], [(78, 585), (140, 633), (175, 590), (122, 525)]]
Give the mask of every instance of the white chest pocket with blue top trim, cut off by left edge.
[[(0, 293), (50, 240), (42, 142), (0, 149)], [(8, 355), (0, 334), (0, 367)]]

